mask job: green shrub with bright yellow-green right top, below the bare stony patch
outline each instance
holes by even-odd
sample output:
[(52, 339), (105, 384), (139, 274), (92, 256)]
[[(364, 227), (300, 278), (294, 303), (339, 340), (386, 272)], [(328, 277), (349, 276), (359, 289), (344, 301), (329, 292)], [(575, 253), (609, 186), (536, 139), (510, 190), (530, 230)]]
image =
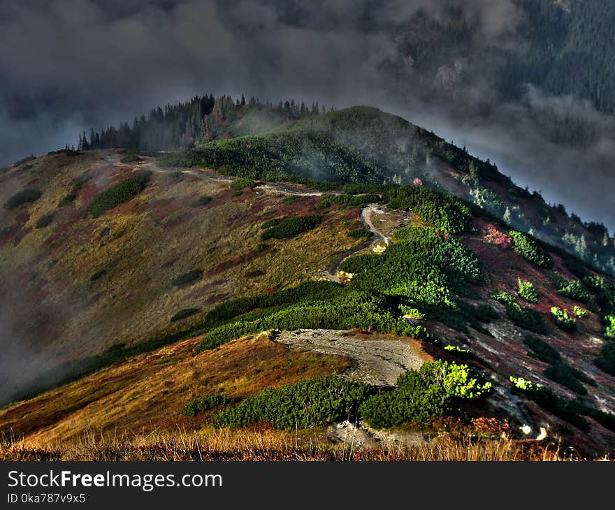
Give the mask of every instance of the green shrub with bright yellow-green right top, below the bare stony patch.
[(389, 428), (412, 421), (426, 422), (451, 410), (460, 399), (479, 398), (491, 383), (473, 377), (468, 365), (439, 360), (408, 370), (394, 391), (381, 391), (361, 405), (363, 419), (372, 427)]

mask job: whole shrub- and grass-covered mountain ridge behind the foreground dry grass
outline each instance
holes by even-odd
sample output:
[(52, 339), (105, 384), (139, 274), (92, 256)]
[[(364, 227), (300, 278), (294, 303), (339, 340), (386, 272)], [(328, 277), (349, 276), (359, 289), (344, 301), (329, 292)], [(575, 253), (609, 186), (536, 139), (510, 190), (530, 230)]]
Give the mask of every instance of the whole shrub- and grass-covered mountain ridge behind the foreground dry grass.
[[(431, 181), (417, 179), (421, 169)], [(314, 170), (324, 180), (310, 178)], [(324, 406), (314, 428), (349, 418), (369, 434), (410, 422), (438, 435), (444, 415), (471, 433), (487, 421), (500, 424), (492, 437), (542, 428), (587, 456), (615, 451), (615, 282), (421, 185), (520, 193), (489, 163), (403, 119), (364, 107), (287, 119), (162, 161), (64, 151), (1, 179), (3, 303), (24, 311), (11, 328), (21, 341), (4, 345), (21, 349), (12, 365), (39, 383), (15, 391), (17, 375), (4, 372), (5, 400), (42, 393), (0, 410), (4, 432), (44, 445), (90, 426), (147, 434), (306, 423)], [(528, 217), (540, 203), (531, 194), (503, 200), (527, 204)], [(301, 344), (317, 354), (273, 343), (277, 332), (302, 330), (321, 338), (318, 348)], [(310, 379), (356, 373), (352, 356), (322, 356), (323, 342), (337, 342), (331, 330), (359, 346), (418, 342), (420, 359), (442, 361), (394, 386)], [(308, 390), (305, 400), (298, 392)], [(328, 409), (323, 395), (333, 394), (350, 400)], [(205, 400), (190, 400), (198, 395)], [(222, 403), (182, 415), (212, 395)], [(260, 414), (268, 409), (280, 412)]]

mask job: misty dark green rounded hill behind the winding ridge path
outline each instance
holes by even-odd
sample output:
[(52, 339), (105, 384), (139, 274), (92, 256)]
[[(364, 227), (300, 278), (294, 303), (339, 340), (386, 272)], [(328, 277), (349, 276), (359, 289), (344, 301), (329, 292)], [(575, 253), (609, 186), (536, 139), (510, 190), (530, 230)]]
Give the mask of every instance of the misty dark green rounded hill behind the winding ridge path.
[(166, 163), (268, 180), (289, 175), (362, 184), (419, 180), (615, 273), (614, 240), (604, 225), (584, 224), (563, 205), (549, 205), (540, 193), (516, 186), (489, 161), (375, 108), (348, 108), (287, 122), (267, 133), (216, 140), (170, 155)]

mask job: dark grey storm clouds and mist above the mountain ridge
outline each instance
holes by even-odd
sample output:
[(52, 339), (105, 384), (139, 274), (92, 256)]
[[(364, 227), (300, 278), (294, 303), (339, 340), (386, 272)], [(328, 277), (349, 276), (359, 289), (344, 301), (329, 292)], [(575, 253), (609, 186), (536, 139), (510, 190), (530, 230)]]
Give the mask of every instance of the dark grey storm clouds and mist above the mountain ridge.
[[(445, 17), (450, 6), (479, 27), (479, 53), (444, 56), (433, 75), (418, 75), (400, 56), (407, 22), (419, 10)], [(522, 21), (514, 0), (4, 0), (0, 164), (205, 92), (370, 103), (465, 143), (613, 230), (612, 117), (531, 87), (506, 103), (484, 79), (497, 62), (480, 48), (522, 47)], [(558, 119), (595, 136), (581, 149), (554, 143)]]

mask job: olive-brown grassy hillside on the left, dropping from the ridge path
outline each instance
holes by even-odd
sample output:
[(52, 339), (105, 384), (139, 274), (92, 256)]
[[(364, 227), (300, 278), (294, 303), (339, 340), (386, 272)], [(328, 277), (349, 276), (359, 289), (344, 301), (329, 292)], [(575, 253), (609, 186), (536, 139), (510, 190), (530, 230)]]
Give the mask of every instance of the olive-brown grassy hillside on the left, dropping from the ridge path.
[[(2, 203), (24, 188), (42, 193), (34, 203), (0, 209), (5, 329), (33, 362), (36, 354), (52, 366), (173, 330), (177, 323), (169, 321), (180, 309), (205, 312), (222, 300), (293, 286), (358, 244), (345, 233), (359, 220), (334, 207), (314, 231), (263, 246), (263, 221), (313, 213), (314, 198), (283, 203), (284, 195), (258, 188), (235, 196), (229, 182), (207, 170), (178, 173), (150, 161), (122, 164), (120, 157), (48, 154), (0, 173)], [(85, 217), (96, 194), (142, 168), (154, 170), (142, 193)], [(75, 201), (58, 207), (84, 175)], [(194, 207), (201, 196), (212, 200)], [(51, 224), (36, 228), (47, 214)], [(195, 282), (173, 285), (195, 269), (203, 271)]]

